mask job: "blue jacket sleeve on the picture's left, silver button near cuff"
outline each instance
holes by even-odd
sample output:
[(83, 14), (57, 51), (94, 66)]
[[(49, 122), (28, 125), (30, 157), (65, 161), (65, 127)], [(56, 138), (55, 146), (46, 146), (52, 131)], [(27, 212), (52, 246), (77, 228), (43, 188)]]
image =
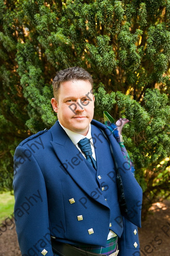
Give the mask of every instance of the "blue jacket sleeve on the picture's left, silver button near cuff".
[(53, 256), (45, 181), (33, 154), (22, 146), (14, 154), (13, 186), (14, 219), (22, 256)]

